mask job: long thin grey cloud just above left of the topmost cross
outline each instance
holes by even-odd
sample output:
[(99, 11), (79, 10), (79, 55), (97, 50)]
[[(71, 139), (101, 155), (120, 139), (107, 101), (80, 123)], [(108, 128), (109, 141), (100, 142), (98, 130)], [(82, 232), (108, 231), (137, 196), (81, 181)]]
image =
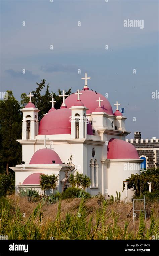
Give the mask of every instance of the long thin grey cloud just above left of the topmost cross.
[(73, 65), (63, 65), (63, 64), (46, 64), (41, 66), (40, 70), (44, 72), (77, 72), (77, 67)]

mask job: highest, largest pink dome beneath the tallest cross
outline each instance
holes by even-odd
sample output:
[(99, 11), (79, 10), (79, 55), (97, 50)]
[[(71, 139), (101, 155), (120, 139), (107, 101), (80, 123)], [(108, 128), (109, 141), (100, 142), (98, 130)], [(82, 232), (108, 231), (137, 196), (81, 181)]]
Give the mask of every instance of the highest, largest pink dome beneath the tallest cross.
[[(83, 102), (84, 106), (88, 108), (86, 112), (87, 114), (94, 112), (94, 110), (99, 106), (99, 102), (97, 102), (96, 100), (99, 100), (99, 97), (100, 97), (101, 100), (103, 100), (101, 102), (103, 112), (106, 112), (109, 115), (113, 115), (112, 107), (109, 101), (102, 94), (100, 93), (96, 94), (91, 90), (85, 90), (85, 91), (81, 90), (80, 93), (82, 93), (80, 95), (81, 101)], [(66, 98), (65, 103), (68, 108), (71, 108), (72, 106), (74, 106), (74, 102), (76, 102), (76, 97), (77, 96), (75, 94), (71, 94)]]

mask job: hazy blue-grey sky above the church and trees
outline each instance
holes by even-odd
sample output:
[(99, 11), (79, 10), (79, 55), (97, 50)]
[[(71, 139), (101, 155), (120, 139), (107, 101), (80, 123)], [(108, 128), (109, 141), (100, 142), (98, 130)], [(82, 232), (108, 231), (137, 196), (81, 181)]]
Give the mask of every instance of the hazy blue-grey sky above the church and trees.
[[(125, 108), (131, 131), (126, 138), (134, 131), (143, 139), (159, 138), (159, 96), (152, 98), (159, 94), (158, 1), (1, 0), (0, 5), (0, 92), (12, 90), (20, 101), (21, 93), (35, 90), (42, 79), (50, 91), (75, 92), (87, 72), (89, 88), (108, 93), (114, 112), (116, 101)], [(128, 19), (144, 21), (143, 29), (124, 27)]]

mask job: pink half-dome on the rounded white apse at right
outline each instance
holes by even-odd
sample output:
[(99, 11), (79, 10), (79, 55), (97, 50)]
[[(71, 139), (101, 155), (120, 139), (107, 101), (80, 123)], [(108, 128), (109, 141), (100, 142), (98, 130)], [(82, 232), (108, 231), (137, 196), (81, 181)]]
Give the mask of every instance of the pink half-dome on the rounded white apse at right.
[(108, 143), (108, 159), (139, 159), (136, 148), (129, 142), (111, 139)]

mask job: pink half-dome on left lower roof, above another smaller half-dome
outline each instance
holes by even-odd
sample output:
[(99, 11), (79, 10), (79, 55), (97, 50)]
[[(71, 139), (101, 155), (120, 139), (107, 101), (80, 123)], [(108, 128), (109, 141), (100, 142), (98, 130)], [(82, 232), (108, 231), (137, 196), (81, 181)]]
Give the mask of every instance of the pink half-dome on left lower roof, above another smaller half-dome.
[(53, 164), (53, 160), (55, 164), (62, 164), (60, 157), (54, 150), (42, 148), (34, 153), (29, 164)]

